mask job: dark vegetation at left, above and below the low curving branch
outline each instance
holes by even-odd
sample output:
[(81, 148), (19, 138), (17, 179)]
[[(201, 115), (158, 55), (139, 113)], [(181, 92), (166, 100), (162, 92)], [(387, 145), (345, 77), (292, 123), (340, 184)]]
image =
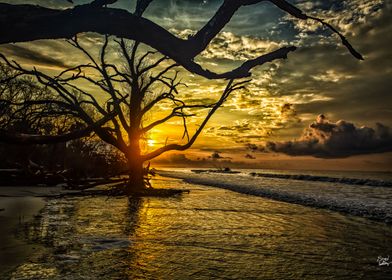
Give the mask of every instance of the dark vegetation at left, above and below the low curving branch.
[[(0, 77), (12, 75), (4, 65)], [(58, 135), (81, 126), (72, 115), (58, 112), (40, 98), (49, 90), (31, 79), (12, 79), (0, 85), (0, 129), (8, 133)], [(53, 144), (0, 142), (2, 185), (77, 184), (87, 178), (110, 178), (126, 170), (125, 160), (110, 145), (90, 136)]]

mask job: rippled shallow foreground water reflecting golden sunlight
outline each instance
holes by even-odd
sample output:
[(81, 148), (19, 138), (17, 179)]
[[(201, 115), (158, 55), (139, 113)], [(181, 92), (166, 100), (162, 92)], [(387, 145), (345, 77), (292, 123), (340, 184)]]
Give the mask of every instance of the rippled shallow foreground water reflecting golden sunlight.
[(392, 227), (159, 178), (176, 198), (52, 199), (13, 279), (388, 279)]

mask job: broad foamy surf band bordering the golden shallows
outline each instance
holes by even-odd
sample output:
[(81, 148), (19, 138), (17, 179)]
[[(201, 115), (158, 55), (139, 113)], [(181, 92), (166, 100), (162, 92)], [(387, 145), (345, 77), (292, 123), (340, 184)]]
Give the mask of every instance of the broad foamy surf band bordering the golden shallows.
[[(392, 224), (392, 189), (344, 186), (311, 181), (293, 185), (290, 180), (266, 180), (233, 174), (193, 174), (159, 171), (159, 175), (183, 179), (187, 183), (219, 187), (238, 193), (266, 197), (315, 208), (329, 209)], [(313, 176), (316, 177), (316, 176)], [(339, 178), (336, 178), (339, 179)]]

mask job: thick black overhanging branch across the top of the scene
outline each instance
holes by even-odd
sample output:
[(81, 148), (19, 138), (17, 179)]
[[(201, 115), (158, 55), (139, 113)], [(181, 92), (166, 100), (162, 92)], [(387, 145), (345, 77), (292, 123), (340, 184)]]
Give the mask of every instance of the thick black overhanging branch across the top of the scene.
[[(125, 10), (101, 8), (113, 0), (96, 0), (94, 5), (86, 4), (67, 10), (54, 10), (33, 5), (0, 4), (0, 44), (9, 42), (32, 41), (36, 39), (72, 38), (81, 32), (98, 32), (120, 38), (143, 42), (170, 57), (192, 73), (209, 79), (233, 79), (249, 76), (253, 65), (247, 71), (233, 70), (216, 74), (204, 70), (194, 62), (213, 38), (231, 20), (241, 6), (253, 5), (263, 0), (225, 0), (211, 20), (193, 37), (180, 39), (161, 26), (141, 17), (142, 11), (151, 1), (139, 0), (137, 11), (131, 14)], [(264, 0), (266, 1), (266, 0)], [(307, 16), (297, 7), (285, 0), (268, 0), (281, 10), (301, 19), (313, 19), (337, 33), (350, 53), (362, 59), (362, 56), (350, 45), (347, 39), (330, 24), (316, 17)], [(53, 28), (61, 26), (62, 28)], [(266, 54), (268, 55), (268, 54)], [(248, 64), (250, 65), (250, 64)], [(242, 75), (242, 76), (241, 76)]]

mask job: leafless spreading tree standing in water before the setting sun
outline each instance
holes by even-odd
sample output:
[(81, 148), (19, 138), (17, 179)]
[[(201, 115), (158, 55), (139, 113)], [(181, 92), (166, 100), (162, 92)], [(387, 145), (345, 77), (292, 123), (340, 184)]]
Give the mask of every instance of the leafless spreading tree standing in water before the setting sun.
[[(43, 85), (49, 95), (38, 95), (33, 99), (9, 102), (16, 108), (44, 105), (37, 114), (72, 115), (103, 141), (121, 151), (127, 158), (130, 184), (127, 194), (145, 187), (143, 163), (172, 150), (186, 150), (192, 146), (215, 111), (235, 90), (243, 88), (247, 81), (229, 80), (220, 98), (214, 103), (187, 104), (178, 97), (183, 84), (178, 77), (177, 64), (169, 63), (165, 56), (153, 51), (143, 51), (140, 43), (125, 40), (110, 40), (105, 36), (98, 57), (85, 49), (75, 37), (69, 43), (84, 54), (88, 63), (66, 69), (57, 76), (49, 76), (38, 69), (26, 69), (17, 62), (9, 61), (0, 54), (3, 62), (14, 72), (9, 79), (20, 76), (34, 78)], [(124, 65), (110, 63), (108, 48), (115, 44)], [(89, 87), (83, 87), (85, 82)], [(86, 89), (88, 88), (88, 89)], [(97, 96), (100, 96), (98, 100)], [(3, 103), (6, 100), (1, 100)], [(146, 122), (146, 116), (160, 104), (171, 104), (166, 116)], [(17, 109), (16, 111), (18, 111)], [(188, 117), (192, 111), (208, 111), (196, 131), (188, 130)], [(182, 144), (165, 144), (153, 151), (143, 153), (141, 142), (156, 126), (174, 118), (183, 123)], [(103, 120), (106, 120), (105, 122)], [(48, 137), (48, 136), (41, 136)]]

